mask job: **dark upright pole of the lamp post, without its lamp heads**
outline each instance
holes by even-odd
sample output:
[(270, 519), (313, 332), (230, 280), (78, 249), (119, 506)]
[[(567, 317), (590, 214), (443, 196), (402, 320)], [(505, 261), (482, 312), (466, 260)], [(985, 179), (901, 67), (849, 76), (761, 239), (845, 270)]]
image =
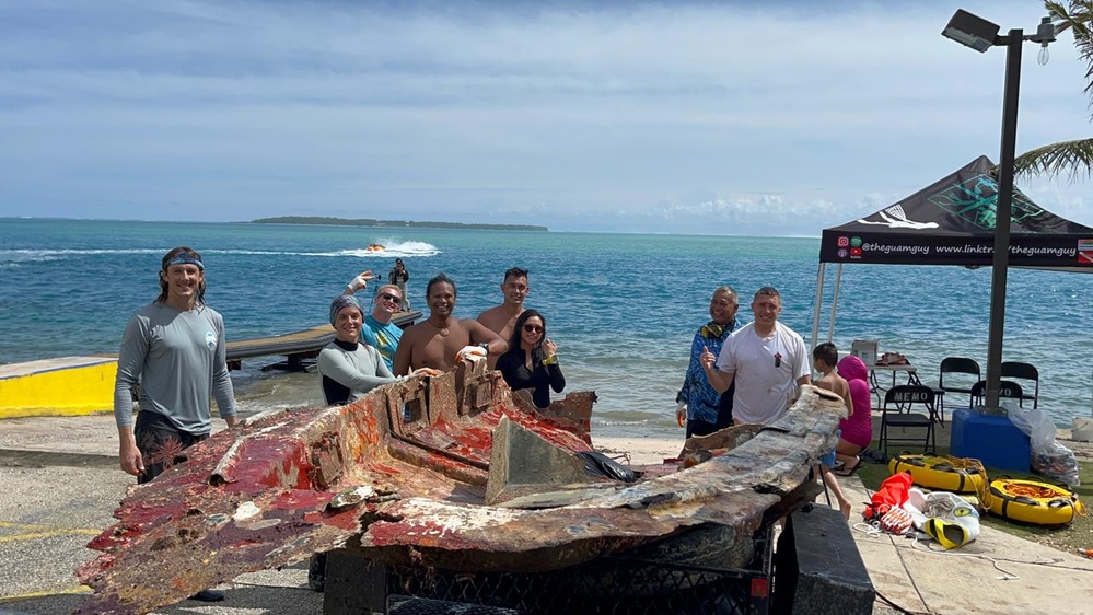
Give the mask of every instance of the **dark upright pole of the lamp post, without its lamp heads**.
[(1002, 101), (1002, 144), (995, 202), (995, 255), (990, 282), (990, 329), (987, 341), (987, 408), (999, 405), (1002, 381), (1002, 338), (1005, 330), (1005, 282), (1010, 265), (1010, 213), (1013, 210), (1013, 159), (1018, 144), (1018, 100), (1021, 91), (1021, 45), (1024, 31), (1014, 28), (1005, 40), (1005, 89)]

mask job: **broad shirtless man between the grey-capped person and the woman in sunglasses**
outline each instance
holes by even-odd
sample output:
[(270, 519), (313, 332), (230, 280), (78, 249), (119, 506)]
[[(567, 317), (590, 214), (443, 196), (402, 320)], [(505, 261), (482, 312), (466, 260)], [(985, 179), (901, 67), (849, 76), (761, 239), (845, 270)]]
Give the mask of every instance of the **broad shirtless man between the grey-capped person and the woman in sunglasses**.
[[(395, 375), (406, 375), (419, 368), (446, 372), (455, 367), (457, 355), (472, 352), (497, 357), (508, 347), (498, 335), (470, 318), (456, 318), (455, 282), (444, 274), (429, 280), (426, 303), (429, 317), (403, 332), (395, 350)], [(477, 345), (477, 352), (468, 346)]]

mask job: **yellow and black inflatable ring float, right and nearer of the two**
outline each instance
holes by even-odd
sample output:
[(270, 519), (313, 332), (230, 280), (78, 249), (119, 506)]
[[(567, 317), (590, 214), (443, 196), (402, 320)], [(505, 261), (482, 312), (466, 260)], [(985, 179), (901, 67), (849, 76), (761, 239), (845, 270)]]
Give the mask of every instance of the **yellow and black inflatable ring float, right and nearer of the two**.
[(990, 481), (990, 501), (985, 502), (992, 513), (1012, 521), (1039, 525), (1066, 525), (1075, 517), (1085, 515), (1085, 504), (1078, 496), (1062, 487), (1022, 480), (998, 478)]

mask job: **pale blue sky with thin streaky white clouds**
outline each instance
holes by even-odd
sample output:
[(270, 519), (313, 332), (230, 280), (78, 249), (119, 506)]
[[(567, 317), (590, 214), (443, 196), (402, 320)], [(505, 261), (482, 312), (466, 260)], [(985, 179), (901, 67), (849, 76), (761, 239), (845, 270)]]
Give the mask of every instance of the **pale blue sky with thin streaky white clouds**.
[[(0, 217), (818, 235), (979, 154), (1037, 0), (0, 2)], [(1089, 135), (1066, 33), (1018, 151)], [(1022, 182), (1093, 225), (1093, 183)]]

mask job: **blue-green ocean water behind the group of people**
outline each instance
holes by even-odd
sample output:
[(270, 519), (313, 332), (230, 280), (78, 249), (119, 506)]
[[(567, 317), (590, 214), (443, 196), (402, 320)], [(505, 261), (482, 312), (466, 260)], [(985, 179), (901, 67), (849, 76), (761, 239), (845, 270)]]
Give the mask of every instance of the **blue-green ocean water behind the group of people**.
[[(367, 252), (370, 243), (388, 251)], [(224, 315), (229, 339), (322, 324), (346, 281), (363, 269), (386, 275), (396, 256), (415, 308), (427, 312), (425, 283), (444, 271), (457, 283), (461, 317), (500, 303), (503, 271), (526, 267), (527, 305), (547, 316), (568, 390), (598, 395), (597, 432), (682, 437), (675, 393), (712, 289), (735, 287), (746, 322), (755, 289), (778, 288), (782, 322), (807, 344), (819, 240), (0, 219), (0, 362), (116, 352), (176, 245), (202, 253), (206, 300)], [(828, 267), (827, 303), (834, 281)], [(986, 369), (989, 301), (988, 268), (847, 266), (834, 341), (849, 350), (853, 339), (877, 339), (933, 384), (946, 356)], [(1061, 426), (1091, 414), (1091, 322), (1093, 276), (1010, 271), (1003, 357), (1039, 368), (1040, 407)], [(233, 372), (244, 411), (321, 402), (318, 375), (261, 369), (277, 360)]]

